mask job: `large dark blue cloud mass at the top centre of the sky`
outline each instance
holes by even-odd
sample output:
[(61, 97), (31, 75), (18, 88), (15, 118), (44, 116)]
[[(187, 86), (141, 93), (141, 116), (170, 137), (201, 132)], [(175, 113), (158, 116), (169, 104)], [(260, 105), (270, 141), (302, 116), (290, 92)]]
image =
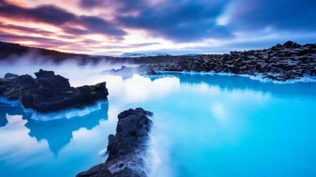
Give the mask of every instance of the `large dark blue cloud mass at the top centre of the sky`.
[(80, 6), (88, 9), (110, 6), (116, 9), (113, 16), (123, 28), (143, 29), (150, 37), (163, 37), (174, 42), (192, 42), (234, 37), (229, 29), (216, 22), (227, 3), (226, 0), (118, 0), (109, 4), (107, 1), (81, 0)]

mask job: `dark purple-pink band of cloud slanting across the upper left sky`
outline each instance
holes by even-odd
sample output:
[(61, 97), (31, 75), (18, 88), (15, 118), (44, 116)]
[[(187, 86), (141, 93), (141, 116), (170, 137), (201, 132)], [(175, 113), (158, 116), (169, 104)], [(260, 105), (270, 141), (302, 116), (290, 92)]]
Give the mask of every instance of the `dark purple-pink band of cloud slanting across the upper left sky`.
[[(0, 3), (0, 15), (13, 20), (27, 20), (59, 27), (70, 34), (103, 34), (123, 39), (127, 33), (113, 23), (96, 16), (76, 16), (52, 5), (23, 8)], [(71, 28), (69, 26), (75, 26)]]

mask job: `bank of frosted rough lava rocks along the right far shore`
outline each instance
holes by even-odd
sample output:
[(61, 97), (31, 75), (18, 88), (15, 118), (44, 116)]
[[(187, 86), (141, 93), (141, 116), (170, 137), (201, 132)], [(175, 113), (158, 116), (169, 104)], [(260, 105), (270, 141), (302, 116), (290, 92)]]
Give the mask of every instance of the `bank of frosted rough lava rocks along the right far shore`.
[(260, 75), (262, 78), (285, 81), (316, 75), (316, 43), (299, 45), (287, 41), (269, 49), (234, 51), (230, 54), (183, 56), (169, 64), (147, 64), (139, 70), (196, 71)]

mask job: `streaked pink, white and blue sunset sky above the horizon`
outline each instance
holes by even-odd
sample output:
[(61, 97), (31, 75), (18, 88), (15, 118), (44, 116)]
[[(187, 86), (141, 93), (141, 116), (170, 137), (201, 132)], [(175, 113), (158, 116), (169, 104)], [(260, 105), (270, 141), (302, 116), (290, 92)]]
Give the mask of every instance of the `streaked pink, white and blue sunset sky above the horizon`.
[(316, 43), (315, 0), (0, 0), (0, 41), (72, 53), (226, 53)]

